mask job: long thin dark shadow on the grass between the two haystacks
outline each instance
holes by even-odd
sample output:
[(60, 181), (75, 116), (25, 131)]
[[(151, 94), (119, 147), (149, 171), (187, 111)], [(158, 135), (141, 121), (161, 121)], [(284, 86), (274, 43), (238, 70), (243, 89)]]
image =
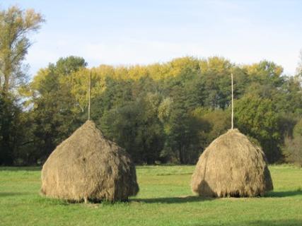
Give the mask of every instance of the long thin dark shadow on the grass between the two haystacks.
[(192, 203), (200, 201), (211, 201), (214, 198), (202, 198), (199, 196), (185, 196), (185, 197), (168, 197), (168, 198), (132, 198), (131, 201), (141, 203)]

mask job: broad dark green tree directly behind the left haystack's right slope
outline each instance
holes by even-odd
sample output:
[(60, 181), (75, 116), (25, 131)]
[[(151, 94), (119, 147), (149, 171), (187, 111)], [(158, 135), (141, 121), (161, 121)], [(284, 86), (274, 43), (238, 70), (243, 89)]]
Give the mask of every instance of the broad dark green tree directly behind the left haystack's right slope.
[[(110, 81), (94, 105), (107, 102), (103, 112), (95, 115), (106, 136), (125, 148), (134, 162), (152, 164), (160, 160), (163, 126), (158, 119), (161, 95), (151, 78), (137, 81)], [(107, 100), (107, 101), (105, 101)], [(99, 118), (98, 118), (99, 117)]]

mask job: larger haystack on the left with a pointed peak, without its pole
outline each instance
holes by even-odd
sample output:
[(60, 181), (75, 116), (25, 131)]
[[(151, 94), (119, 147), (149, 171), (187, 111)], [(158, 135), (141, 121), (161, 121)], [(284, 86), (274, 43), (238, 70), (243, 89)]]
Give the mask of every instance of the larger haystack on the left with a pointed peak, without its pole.
[(139, 186), (129, 154), (88, 120), (48, 157), (41, 190), (69, 201), (125, 201)]

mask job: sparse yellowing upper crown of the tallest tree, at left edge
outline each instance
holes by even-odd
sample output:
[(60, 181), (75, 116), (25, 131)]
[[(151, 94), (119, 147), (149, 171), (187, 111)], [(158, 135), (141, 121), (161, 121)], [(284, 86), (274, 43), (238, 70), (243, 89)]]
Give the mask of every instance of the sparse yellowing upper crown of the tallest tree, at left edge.
[(44, 19), (33, 9), (12, 6), (0, 11), (0, 85), (3, 95), (25, 79), (23, 61), (32, 42), (29, 35), (39, 30)]

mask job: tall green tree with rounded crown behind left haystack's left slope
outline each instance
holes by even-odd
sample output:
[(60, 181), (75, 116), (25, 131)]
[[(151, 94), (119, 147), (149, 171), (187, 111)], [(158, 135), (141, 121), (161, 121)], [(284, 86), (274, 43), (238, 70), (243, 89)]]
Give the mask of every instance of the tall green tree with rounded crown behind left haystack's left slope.
[[(30, 83), (31, 118), (33, 119), (34, 153), (37, 160), (45, 160), (56, 145), (67, 138), (83, 121), (76, 111), (76, 99), (69, 82), (72, 73), (86, 62), (80, 57), (61, 58), (47, 69), (41, 69)], [(81, 112), (83, 114), (83, 112)]]

